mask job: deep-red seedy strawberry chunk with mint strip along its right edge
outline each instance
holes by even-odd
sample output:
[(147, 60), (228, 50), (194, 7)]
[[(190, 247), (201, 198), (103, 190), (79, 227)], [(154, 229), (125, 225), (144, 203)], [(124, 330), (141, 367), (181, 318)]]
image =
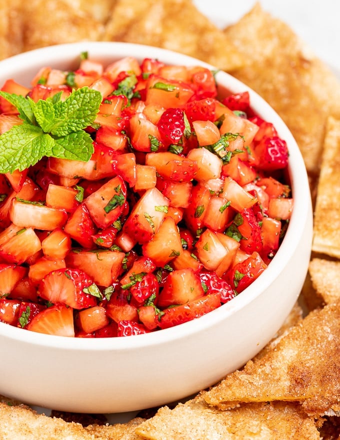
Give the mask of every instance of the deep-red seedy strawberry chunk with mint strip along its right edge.
[(157, 127), (165, 146), (178, 143), (184, 133), (184, 117), (180, 108), (167, 108), (157, 123)]

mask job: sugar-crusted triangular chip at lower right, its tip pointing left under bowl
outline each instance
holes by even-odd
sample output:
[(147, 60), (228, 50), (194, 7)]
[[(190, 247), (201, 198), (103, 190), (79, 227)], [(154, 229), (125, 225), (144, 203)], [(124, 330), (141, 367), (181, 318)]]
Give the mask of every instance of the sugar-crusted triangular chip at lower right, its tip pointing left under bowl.
[(340, 411), (340, 302), (311, 311), (257, 362), (206, 391), (207, 403), (299, 401), (314, 416)]

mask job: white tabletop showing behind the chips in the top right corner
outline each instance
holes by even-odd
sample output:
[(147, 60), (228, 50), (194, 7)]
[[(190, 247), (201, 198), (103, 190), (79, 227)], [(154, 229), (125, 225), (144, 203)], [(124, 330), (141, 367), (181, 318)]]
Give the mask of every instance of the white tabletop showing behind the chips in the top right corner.
[[(237, 21), (255, 0), (194, 0), (218, 27)], [(314, 53), (340, 71), (340, 0), (260, 0), (262, 8), (282, 19)]]

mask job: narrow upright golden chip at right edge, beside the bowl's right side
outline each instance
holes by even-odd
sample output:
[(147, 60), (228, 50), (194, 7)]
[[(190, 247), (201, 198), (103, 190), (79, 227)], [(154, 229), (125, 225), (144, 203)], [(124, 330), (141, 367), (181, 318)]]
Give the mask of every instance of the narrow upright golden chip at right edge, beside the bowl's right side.
[(340, 257), (340, 119), (328, 118), (314, 210), (312, 250)]

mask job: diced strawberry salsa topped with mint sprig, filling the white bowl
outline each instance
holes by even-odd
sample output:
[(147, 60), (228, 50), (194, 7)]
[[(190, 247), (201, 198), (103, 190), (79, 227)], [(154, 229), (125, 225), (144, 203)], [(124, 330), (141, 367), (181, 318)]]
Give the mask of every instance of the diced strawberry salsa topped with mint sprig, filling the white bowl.
[(286, 143), (213, 72), (126, 57), (0, 91), (0, 320), (77, 337), (197, 318), (267, 267)]

